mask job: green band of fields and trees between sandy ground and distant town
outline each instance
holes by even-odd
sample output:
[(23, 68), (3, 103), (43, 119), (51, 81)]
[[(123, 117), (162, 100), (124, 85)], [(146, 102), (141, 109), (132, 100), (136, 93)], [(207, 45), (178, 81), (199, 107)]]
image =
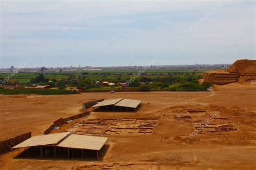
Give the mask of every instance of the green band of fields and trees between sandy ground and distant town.
[[(127, 83), (127, 88), (152, 91), (203, 91), (210, 84), (199, 84), (205, 70), (92, 70), (70, 72), (33, 72), (17, 73), (5, 85), (19, 81), (21, 87), (31, 87), (33, 84), (50, 86), (52, 90), (78, 88), (81, 90), (120, 90), (119, 86), (102, 86), (96, 82)], [(0, 80), (10, 73), (0, 74)], [(36, 89), (37, 90), (37, 89)], [(31, 93), (35, 91), (14, 91), (10, 93)], [(5, 91), (5, 94), (7, 92)], [(40, 92), (41, 93), (41, 92)], [(55, 91), (55, 93), (58, 93)], [(64, 92), (62, 92), (64, 93)], [(50, 93), (51, 94), (51, 93)]]

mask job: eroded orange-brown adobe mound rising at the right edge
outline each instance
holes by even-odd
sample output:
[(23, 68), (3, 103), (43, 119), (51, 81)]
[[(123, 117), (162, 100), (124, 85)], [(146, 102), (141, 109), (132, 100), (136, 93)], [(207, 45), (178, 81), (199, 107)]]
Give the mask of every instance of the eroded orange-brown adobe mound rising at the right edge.
[(256, 60), (237, 60), (227, 70), (213, 70), (204, 74), (204, 81), (224, 85), (256, 80)]

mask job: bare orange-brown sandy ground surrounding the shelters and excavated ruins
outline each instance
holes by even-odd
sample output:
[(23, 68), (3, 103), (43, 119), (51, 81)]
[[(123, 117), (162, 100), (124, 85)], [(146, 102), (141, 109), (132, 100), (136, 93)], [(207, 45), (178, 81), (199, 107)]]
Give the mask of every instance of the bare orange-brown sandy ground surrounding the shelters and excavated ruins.
[[(42, 134), (56, 119), (78, 114), (82, 103), (100, 98), (142, 100), (143, 108), (136, 115), (160, 117), (152, 134), (107, 136), (110, 147), (103, 161), (12, 159), (12, 154), (8, 153), (3, 155), (5, 166), (0, 168), (256, 169), (255, 88), (250, 83), (233, 83), (215, 86), (213, 92), (0, 95), (1, 140), (29, 131), (33, 136)], [(189, 139), (189, 134), (195, 130), (193, 121), (177, 119), (174, 113), (191, 109), (220, 112), (225, 119), (214, 123), (231, 124), (237, 130), (205, 133)], [(91, 118), (112, 117), (113, 114), (95, 114)]]

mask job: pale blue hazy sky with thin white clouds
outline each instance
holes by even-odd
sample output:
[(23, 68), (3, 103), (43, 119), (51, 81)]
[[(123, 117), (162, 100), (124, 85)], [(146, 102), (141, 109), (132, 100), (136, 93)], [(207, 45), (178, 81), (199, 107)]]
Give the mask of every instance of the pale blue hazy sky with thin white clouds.
[(255, 2), (1, 1), (1, 65), (255, 60)]

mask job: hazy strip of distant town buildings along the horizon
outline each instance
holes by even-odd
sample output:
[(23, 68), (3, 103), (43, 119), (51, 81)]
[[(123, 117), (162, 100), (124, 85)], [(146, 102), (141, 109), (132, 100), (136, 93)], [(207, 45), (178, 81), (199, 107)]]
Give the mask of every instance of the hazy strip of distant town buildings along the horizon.
[[(19, 73), (27, 72), (64, 72), (64, 71), (100, 71), (100, 70), (139, 70), (146, 67), (149, 70), (211, 70), (211, 69), (227, 69), (230, 64), (215, 65), (163, 65), (163, 66), (112, 66), (112, 67), (91, 67), (91, 66), (70, 66), (70, 67), (37, 67), (37, 68), (19, 68)], [(16, 67), (0, 69), (1, 73), (11, 73)]]

